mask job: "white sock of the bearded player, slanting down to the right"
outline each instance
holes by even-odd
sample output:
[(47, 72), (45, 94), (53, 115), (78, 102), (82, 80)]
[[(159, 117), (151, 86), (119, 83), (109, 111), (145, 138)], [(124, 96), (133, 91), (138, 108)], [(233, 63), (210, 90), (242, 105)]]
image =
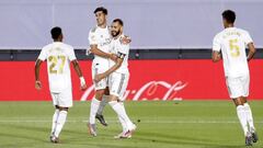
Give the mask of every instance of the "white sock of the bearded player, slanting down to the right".
[[(121, 105), (117, 101), (111, 101), (111, 102), (108, 102), (108, 104), (117, 113), (117, 115), (119, 117), (122, 117), (122, 119), (126, 123), (126, 127), (128, 129), (133, 129), (134, 124), (132, 123), (132, 121), (127, 116), (126, 111), (124, 109), (124, 105)], [(126, 127), (123, 127), (123, 128), (126, 128)]]

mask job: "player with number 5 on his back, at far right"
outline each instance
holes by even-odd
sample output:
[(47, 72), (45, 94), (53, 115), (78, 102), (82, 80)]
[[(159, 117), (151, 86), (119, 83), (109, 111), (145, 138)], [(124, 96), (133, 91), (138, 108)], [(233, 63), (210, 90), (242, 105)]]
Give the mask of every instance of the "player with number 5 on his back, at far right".
[[(245, 145), (256, 143), (258, 136), (253, 123), (252, 112), (247, 101), (249, 95), (250, 73), (248, 61), (250, 61), (255, 48), (250, 34), (241, 29), (235, 27), (236, 14), (231, 10), (222, 12), (225, 30), (218, 33), (213, 41), (213, 61), (219, 61), (222, 57), (226, 83), (228, 92), (237, 106), (238, 118), (244, 132)], [(245, 47), (249, 47), (248, 56)]]

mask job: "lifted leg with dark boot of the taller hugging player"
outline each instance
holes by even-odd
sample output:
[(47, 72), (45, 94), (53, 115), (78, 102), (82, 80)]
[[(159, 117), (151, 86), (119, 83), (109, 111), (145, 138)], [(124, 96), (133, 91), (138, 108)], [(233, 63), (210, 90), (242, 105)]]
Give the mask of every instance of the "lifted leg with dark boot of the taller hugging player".
[(107, 123), (104, 119), (103, 111), (104, 111), (105, 105), (107, 104), (108, 96), (110, 96), (110, 90), (108, 90), (108, 87), (107, 87), (105, 89), (104, 95), (102, 96), (102, 101), (100, 103), (99, 110), (98, 110), (96, 115), (95, 115), (95, 118), (98, 118), (100, 121), (100, 123), (104, 126), (107, 126)]

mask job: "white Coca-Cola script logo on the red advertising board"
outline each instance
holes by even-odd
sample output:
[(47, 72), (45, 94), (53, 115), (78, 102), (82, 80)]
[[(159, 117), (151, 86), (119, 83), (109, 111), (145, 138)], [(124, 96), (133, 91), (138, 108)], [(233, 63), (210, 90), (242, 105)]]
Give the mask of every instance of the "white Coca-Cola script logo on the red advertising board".
[[(139, 100), (182, 100), (178, 96), (178, 92), (187, 87), (187, 82), (176, 81), (169, 83), (167, 81), (150, 81), (138, 89), (126, 90), (124, 99), (133, 101)], [(81, 96), (81, 101), (87, 101), (94, 96), (94, 86), (89, 87)]]

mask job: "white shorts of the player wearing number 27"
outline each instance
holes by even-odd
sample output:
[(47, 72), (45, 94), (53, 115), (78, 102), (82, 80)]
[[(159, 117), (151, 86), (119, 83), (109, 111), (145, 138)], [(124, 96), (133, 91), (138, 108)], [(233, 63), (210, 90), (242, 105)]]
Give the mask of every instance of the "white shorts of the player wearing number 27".
[(72, 103), (72, 89), (65, 89), (61, 92), (50, 92), (54, 106), (71, 107)]

